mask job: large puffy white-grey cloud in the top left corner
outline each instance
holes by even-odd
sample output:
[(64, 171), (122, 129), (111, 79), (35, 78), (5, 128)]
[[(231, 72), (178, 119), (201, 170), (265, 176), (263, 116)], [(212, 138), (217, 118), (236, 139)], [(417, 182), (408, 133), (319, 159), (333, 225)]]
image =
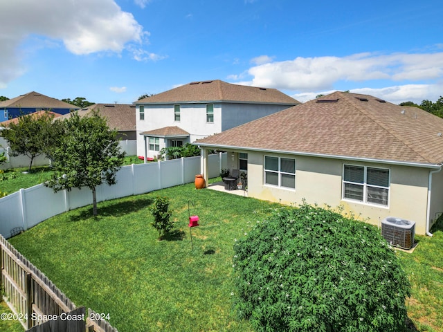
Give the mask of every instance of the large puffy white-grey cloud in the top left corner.
[(18, 48), (29, 35), (61, 40), (76, 55), (120, 53), (128, 43), (142, 44), (147, 37), (114, 0), (1, 1), (0, 22), (1, 85), (24, 72)]

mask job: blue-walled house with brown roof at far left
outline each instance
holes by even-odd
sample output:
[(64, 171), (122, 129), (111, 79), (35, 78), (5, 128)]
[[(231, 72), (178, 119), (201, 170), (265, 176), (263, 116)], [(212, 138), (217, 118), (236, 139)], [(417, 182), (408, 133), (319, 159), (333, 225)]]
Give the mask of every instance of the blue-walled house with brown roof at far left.
[(80, 109), (80, 107), (32, 91), (0, 102), (0, 122), (17, 118), (21, 114), (35, 113), (37, 111), (53, 111), (59, 114), (66, 114), (75, 109)]

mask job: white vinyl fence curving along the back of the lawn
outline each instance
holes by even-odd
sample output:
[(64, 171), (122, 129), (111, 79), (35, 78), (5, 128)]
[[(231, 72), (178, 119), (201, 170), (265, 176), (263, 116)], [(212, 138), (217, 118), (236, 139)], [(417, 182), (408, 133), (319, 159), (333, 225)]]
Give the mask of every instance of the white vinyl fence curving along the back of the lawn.
[[(192, 183), (201, 172), (200, 163), (201, 157), (190, 157), (124, 166), (117, 173), (116, 185), (97, 187), (97, 201)], [(226, 168), (226, 153), (210, 155), (208, 176), (219, 176), (221, 168)], [(51, 216), (89, 204), (92, 204), (92, 193), (88, 188), (55, 193), (41, 184), (21, 189), (0, 199), (0, 233), (8, 239), (14, 228), (27, 230)]]

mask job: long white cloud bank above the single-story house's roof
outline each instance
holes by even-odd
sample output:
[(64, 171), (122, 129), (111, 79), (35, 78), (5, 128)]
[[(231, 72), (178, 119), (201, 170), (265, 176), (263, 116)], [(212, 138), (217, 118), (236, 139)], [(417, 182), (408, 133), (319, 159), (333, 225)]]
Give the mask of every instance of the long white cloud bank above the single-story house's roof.
[(300, 92), (333, 89), (338, 81), (435, 80), (443, 76), (443, 53), (297, 57), (253, 66), (248, 74), (251, 85)]

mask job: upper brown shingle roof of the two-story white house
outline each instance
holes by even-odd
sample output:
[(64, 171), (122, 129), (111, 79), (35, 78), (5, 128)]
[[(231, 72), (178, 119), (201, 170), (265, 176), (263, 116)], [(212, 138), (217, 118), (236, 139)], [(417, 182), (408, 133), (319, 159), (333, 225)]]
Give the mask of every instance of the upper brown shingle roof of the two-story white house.
[(277, 89), (257, 88), (230, 84), (221, 80), (191, 82), (149, 98), (136, 104), (161, 104), (180, 102), (252, 102), (260, 104), (300, 104)]

